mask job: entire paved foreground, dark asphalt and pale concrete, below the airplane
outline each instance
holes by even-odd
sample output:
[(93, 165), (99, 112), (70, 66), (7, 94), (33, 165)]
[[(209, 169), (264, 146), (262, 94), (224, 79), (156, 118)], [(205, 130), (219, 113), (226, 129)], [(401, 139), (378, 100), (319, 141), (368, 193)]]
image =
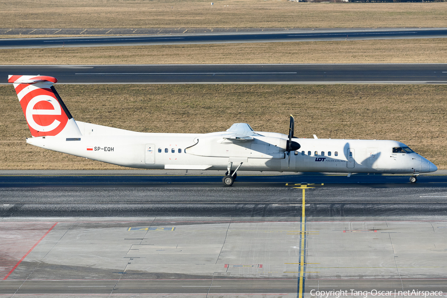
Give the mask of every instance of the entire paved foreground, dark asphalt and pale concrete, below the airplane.
[(215, 172), (2, 171), (0, 295), (446, 294), (446, 171)]

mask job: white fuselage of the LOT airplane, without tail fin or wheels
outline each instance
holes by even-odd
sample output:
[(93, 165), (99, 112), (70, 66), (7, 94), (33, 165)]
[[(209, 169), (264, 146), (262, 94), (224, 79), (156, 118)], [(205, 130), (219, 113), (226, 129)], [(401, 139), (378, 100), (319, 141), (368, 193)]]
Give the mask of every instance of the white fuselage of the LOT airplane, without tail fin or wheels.
[(436, 171), (436, 166), (415, 152), (393, 153), (403, 143), (390, 140), (301, 139), (290, 154), (288, 136), (256, 132), (251, 141), (228, 141), (227, 132), (208, 134), (142, 133), (76, 121), (81, 136), (28, 138), (45, 149), (110, 164), (141, 169), (240, 171), (408, 173)]

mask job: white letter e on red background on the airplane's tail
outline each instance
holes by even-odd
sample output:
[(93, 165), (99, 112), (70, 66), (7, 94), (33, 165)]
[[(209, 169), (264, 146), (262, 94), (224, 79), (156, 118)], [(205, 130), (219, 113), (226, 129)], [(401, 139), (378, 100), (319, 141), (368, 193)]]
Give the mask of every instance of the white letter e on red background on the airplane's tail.
[[(32, 136), (57, 135), (64, 129), (68, 117), (62, 111), (53, 91), (29, 85), (20, 93), (27, 92), (20, 100), (23, 113)], [(18, 94), (17, 94), (18, 95)]]

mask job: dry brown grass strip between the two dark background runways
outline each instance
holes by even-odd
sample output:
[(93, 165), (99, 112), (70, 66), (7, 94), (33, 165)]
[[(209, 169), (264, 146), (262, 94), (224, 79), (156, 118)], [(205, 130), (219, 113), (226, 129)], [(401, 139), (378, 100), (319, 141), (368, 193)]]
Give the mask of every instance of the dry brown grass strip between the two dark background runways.
[(447, 39), (0, 50), (0, 64), (445, 63)]

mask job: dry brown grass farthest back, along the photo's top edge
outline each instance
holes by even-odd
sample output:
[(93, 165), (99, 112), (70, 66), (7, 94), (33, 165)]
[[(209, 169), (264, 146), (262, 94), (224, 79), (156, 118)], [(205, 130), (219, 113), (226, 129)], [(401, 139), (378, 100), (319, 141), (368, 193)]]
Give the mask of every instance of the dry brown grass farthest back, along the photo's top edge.
[[(0, 0), (0, 28), (444, 27), (447, 5), (286, 0)], [(228, 5), (227, 7), (224, 7)]]

